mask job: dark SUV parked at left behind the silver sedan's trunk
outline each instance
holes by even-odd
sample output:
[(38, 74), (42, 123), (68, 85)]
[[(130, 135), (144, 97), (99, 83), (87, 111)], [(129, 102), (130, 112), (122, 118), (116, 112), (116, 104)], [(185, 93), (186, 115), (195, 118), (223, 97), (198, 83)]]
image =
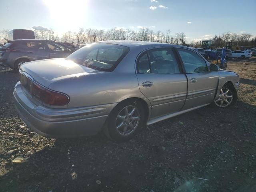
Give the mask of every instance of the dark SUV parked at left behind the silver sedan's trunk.
[(73, 50), (50, 40), (26, 39), (9, 41), (0, 48), (0, 64), (16, 71), (25, 62), (49, 58), (65, 58)]

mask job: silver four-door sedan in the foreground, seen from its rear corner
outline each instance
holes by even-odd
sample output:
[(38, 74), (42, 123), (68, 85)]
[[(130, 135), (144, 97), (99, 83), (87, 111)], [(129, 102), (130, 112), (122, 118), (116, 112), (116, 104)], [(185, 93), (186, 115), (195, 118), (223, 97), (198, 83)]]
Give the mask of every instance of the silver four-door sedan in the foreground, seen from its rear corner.
[(232, 106), (238, 86), (238, 74), (186, 46), (104, 41), (66, 59), (23, 64), (14, 98), (20, 117), (43, 136), (102, 130), (123, 141), (146, 124), (211, 103)]

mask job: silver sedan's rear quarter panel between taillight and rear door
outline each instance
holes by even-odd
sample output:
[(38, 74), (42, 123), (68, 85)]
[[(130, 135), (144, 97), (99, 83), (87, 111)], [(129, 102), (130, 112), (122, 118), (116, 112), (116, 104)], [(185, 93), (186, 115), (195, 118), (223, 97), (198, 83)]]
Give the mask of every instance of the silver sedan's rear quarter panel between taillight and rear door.
[(142, 98), (150, 106), (138, 88), (134, 72), (106, 72), (67, 78), (53, 82), (48, 88), (68, 94), (68, 108), (119, 103), (132, 97)]

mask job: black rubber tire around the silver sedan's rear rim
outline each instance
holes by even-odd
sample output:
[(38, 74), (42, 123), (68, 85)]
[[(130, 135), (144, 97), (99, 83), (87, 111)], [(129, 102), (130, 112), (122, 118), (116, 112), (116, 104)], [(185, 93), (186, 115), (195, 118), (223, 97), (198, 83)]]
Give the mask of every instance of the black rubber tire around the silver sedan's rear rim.
[[(116, 124), (118, 121), (118, 115), (126, 107), (136, 108), (136, 114), (138, 112), (139, 121), (138, 121), (138, 125), (136, 124), (137, 125), (136, 128), (130, 134), (122, 135), (118, 132), (118, 128)], [(112, 110), (112, 112), (108, 116), (106, 126), (103, 128), (103, 132), (106, 134), (106, 136), (108, 136), (108, 138), (110, 138), (113, 141), (116, 141), (116, 142), (128, 141), (132, 139), (138, 133), (138, 131), (145, 125), (145, 119), (146, 119), (146, 113), (144, 111), (142, 104), (138, 102), (138, 100), (126, 100), (118, 104)], [(127, 127), (129, 127), (129, 125)], [(130, 129), (130, 128), (127, 128), (127, 129)]]

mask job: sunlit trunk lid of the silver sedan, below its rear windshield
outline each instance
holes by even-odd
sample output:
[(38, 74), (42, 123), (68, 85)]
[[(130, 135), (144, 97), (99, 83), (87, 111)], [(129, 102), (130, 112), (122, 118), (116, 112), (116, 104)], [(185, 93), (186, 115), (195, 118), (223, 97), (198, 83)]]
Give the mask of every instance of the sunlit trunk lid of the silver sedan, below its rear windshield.
[(32, 77), (35, 82), (48, 88), (52, 82), (65, 78), (75, 78), (93, 73), (104, 73), (95, 69), (76, 64), (64, 58), (38, 60), (24, 63), (21, 71)]

